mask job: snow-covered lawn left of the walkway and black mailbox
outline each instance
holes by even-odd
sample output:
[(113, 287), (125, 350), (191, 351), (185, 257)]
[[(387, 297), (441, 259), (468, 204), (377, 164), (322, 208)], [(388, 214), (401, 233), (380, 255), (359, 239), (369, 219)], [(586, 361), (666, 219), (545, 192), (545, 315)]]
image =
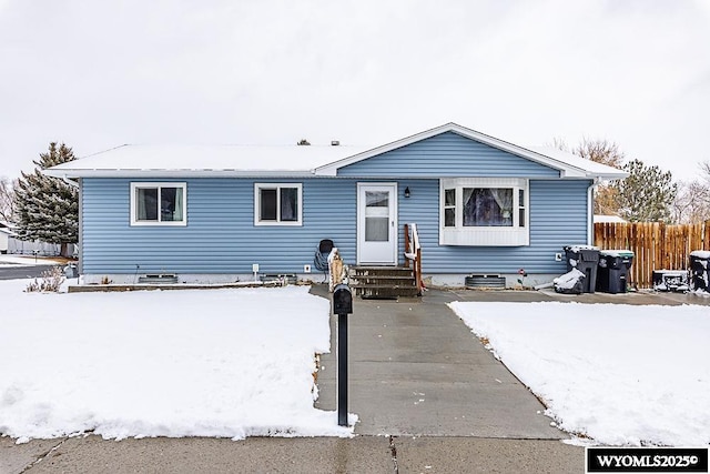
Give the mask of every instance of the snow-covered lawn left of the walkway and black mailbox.
[(329, 303), (307, 288), (26, 286), (0, 282), (0, 435), (352, 435), (313, 406)]

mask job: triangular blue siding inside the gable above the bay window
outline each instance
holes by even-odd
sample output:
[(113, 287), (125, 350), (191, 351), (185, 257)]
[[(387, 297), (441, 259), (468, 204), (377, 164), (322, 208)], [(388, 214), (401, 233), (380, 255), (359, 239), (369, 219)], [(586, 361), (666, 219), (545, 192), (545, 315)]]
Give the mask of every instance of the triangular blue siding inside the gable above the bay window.
[(341, 168), (338, 177), (559, 178), (559, 171), (454, 132)]

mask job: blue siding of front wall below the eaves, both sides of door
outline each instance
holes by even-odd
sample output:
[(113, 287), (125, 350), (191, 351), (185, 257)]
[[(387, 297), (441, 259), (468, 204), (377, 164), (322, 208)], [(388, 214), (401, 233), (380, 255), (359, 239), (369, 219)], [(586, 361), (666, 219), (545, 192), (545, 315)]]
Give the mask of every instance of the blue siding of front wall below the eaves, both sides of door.
[[(322, 239), (333, 239), (346, 263), (355, 263), (356, 190), (363, 180), (274, 180), (303, 183), (303, 226), (255, 226), (255, 180), (151, 180), (187, 183), (187, 225), (182, 228), (130, 226), (131, 181), (139, 180), (82, 180), (84, 273), (248, 274), (252, 263), (262, 273), (302, 273)], [(403, 224), (416, 222), (425, 273), (515, 273), (520, 268), (561, 273), (565, 264), (554, 261), (555, 252), (587, 239), (589, 184), (531, 180), (529, 246), (463, 248), (438, 244), (438, 179), (398, 180), (400, 263)], [(412, 196), (405, 199), (407, 186)]]

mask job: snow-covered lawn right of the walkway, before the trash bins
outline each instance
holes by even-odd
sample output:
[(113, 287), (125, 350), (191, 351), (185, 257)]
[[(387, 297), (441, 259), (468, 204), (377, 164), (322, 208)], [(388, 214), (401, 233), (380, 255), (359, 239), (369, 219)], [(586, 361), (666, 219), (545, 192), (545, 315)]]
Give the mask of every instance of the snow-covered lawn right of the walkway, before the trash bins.
[(450, 306), (561, 428), (609, 445), (710, 443), (707, 306)]

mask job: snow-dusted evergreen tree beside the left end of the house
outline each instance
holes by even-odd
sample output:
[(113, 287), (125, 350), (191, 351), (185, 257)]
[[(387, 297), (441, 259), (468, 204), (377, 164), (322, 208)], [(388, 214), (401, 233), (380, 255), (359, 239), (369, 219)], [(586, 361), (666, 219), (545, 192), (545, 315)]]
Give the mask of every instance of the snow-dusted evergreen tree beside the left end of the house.
[(41, 171), (74, 159), (71, 148), (52, 142), (34, 161), (34, 172), (22, 172), (14, 189), (18, 236), (61, 244), (62, 255), (67, 255), (68, 243), (79, 241), (79, 192)]

